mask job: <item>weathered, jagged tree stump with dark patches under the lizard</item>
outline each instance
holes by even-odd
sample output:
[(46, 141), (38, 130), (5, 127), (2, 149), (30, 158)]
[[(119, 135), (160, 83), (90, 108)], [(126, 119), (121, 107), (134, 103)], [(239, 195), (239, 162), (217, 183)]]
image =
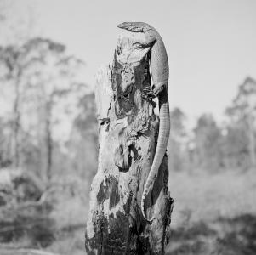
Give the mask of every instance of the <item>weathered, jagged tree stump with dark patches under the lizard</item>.
[(99, 162), (90, 191), (86, 229), (88, 254), (163, 254), (173, 199), (168, 194), (164, 156), (153, 190), (140, 202), (156, 150), (156, 103), (143, 98), (151, 88), (150, 48), (136, 48), (139, 34), (119, 38), (111, 65), (97, 77), (95, 99), (99, 122)]

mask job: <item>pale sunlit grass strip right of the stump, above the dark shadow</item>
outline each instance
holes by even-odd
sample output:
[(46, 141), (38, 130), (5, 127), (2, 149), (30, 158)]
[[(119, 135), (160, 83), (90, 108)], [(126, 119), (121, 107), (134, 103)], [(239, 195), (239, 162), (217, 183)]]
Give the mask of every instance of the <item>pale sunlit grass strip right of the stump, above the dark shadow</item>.
[[(232, 218), (256, 213), (256, 171), (215, 175), (171, 173), (169, 190), (174, 197), (173, 227), (191, 222)], [(180, 222), (181, 221), (181, 222)]]

